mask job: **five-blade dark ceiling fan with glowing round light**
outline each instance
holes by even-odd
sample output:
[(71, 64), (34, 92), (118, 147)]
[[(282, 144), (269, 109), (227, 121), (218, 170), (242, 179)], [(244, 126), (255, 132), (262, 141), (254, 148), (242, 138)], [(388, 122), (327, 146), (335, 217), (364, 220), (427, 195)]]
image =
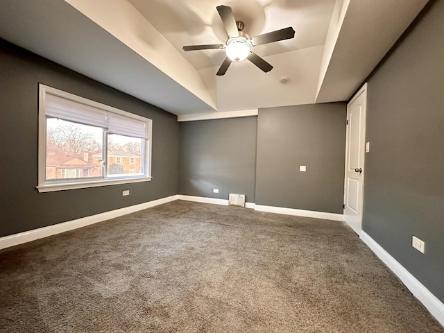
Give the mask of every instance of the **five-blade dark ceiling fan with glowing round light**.
[(222, 76), (227, 71), (232, 61), (241, 61), (244, 59), (250, 60), (262, 71), (267, 72), (273, 69), (273, 66), (268, 64), (264, 59), (257, 56), (250, 50), (250, 47), (262, 44), (268, 44), (272, 42), (278, 42), (279, 40), (288, 40), (294, 37), (295, 31), (291, 26), (280, 30), (272, 31), (271, 33), (264, 33), (255, 37), (249, 37), (244, 33), (244, 23), (236, 21), (233, 16), (231, 7), (217, 6), (217, 11), (222, 19), (225, 30), (228, 34), (228, 40), (225, 44), (205, 44), (205, 45), (185, 45), (184, 51), (195, 50), (207, 50), (207, 49), (225, 49), (226, 57), (223, 60), (219, 71), (216, 75)]

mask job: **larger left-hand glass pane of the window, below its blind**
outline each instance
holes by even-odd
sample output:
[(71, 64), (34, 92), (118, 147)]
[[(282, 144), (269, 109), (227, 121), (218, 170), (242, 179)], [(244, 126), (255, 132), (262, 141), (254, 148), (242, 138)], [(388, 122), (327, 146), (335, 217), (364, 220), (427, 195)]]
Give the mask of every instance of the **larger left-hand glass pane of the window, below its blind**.
[(102, 176), (102, 128), (46, 118), (46, 180)]

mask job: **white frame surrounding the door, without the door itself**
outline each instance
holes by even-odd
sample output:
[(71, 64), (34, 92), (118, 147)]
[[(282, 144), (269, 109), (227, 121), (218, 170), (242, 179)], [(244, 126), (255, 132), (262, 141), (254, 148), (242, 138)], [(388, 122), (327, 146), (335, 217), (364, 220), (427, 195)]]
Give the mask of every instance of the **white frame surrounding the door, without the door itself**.
[[(364, 144), (361, 146), (362, 149), (362, 173), (361, 173), (361, 181), (362, 181), (362, 186), (361, 186), (361, 216), (359, 216), (359, 230), (356, 230), (356, 228), (353, 228), (352, 225), (350, 225), (347, 221), (345, 221), (345, 198), (347, 198), (347, 159), (348, 159), (348, 146), (349, 146), (349, 139), (350, 139), (350, 135), (349, 135), (349, 127), (347, 126), (347, 128), (345, 129), (345, 163), (344, 163), (344, 198), (343, 198), (343, 202), (344, 202), (344, 209), (343, 209), (343, 216), (344, 216), (344, 221), (345, 223), (347, 223), (348, 225), (350, 225), (350, 228), (352, 228), (358, 235), (359, 237), (361, 237), (361, 231), (362, 231), (362, 219), (364, 216), (364, 180), (365, 180), (365, 172), (366, 172), (366, 168), (365, 168), (365, 162), (366, 162), (366, 123), (367, 123), (367, 101), (368, 101), (368, 94), (367, 94), (367, 83), (364, 83), (364, 85), (362, 85), (362, 87), (358, 90), (358, 92), (355, 94), (355, 96), (352, 97), (352, 99), (350, 99), (350, 101), (347, 103), (347, 119), (349, 118), (350, 115), (350, 105), (359, 97), (361, 96), (361, 94), (364, 94), (365, 98), (364, 98), (364, 121), (362, 123), (362, 128), (361, 130), (364, 133)], [(347, 120), (348, 121), (348, 120)]]

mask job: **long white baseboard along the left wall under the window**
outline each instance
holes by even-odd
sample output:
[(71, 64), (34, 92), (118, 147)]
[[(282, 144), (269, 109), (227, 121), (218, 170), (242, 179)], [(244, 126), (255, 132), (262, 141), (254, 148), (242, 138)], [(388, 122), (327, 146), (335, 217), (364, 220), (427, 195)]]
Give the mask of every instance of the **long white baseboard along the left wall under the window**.
[(104, 212), (91, 216), (86, 216), (81, 219), (62, 222), (55, 225), (49, 225), (47, 227), (20, 232), (19, 234), (11, 234), (0, 238), (0, 250), (2, 248), (9, 248), (10, 246), (16, 246), (19, 244), (27, 243), (28, 241), (35, 241), (36, 239), (52, 236), (53, 234), (60, 234), (69, 230), (85, 227), (86, 225), (94, 224), (97, 222), (114, 219), (114, 217), (130, 214), (139, 210), (146, 210), (146, 208), (162, 205), (162, 203), (169, 203), (177, 200), (178, 196), (168, 196), (167, 198), (161, 198), (146, 203), (139, 203), (129, 207), (123, 207), (119, 210), (112, 210), (110, 212)]

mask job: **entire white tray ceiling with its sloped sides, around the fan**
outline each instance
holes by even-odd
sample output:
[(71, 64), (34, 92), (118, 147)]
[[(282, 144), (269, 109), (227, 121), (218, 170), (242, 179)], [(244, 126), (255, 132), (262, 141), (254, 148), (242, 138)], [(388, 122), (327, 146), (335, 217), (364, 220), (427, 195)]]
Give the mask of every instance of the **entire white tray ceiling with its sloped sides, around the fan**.
[[(346, 101), (427, 0), (0, 0), (0, 37), (173, 114)], [(216, 76), (231, 6), (250, 37), (287, 26), (295, 38), (255, 46)], [(286, 83), (281, 79), (286, 78)]]

